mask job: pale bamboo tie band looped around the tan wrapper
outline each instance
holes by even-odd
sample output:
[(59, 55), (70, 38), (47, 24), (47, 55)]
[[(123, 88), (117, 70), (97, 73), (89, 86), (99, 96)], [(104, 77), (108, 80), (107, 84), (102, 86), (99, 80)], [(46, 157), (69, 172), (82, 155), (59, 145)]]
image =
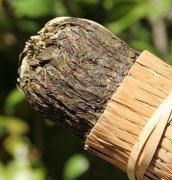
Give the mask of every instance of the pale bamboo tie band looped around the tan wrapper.
[[(172, 91), (170, 95), (157, 108), (147, 122), (134, 144), (128, 161), (127, 174), (130, 180), (141, 180), (154, 156), (166, 125), (171, 121)], [(140, 162), (138, 177), (136, 178), (136, 164)]]

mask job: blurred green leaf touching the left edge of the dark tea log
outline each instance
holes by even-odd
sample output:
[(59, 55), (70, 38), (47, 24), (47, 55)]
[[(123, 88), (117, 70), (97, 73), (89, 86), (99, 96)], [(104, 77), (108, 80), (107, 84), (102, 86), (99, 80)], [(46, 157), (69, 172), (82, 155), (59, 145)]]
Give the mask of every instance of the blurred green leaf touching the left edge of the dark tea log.
[(17, 88), (13, 89), (5, 102), (5, 114), (14, 115), (15, 106), (21, 103), (25, 99), (24, 94), (20, 92)]

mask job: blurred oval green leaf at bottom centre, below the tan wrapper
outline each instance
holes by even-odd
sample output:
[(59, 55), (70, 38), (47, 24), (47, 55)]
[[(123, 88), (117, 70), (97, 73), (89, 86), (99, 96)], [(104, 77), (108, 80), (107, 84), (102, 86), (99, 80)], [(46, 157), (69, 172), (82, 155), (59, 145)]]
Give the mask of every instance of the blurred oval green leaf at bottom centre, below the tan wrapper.
[(75, 154), (65, 164), (64, 179), (74, 180), (85, 173), (89, 168), (89, 162), (85, 156)]

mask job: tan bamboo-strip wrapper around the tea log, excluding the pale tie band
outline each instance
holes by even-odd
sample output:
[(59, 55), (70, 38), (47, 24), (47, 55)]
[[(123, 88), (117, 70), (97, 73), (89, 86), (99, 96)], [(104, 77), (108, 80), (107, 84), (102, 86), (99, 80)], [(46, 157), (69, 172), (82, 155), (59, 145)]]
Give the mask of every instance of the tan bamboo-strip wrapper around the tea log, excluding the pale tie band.
[[(142, 130), (171, 90), (172, 67), (148, 51), (141, 53), (92, 128), (85, 149), (127, 172)], [(172, 179), (171, 119), (169, 111), (167, 125), (160, 142), (155, 139), (158, 147), (143, 179)], [(136, 177), (142, 169), (140, 166), (141, 162), (136, 162)]]

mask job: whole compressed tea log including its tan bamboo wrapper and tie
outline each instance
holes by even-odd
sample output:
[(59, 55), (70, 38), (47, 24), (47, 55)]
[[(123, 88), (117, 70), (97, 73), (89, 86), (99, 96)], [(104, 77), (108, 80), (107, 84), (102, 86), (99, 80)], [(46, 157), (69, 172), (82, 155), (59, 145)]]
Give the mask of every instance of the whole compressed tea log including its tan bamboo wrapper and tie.
[[(31, 106), (135, 179), (172, 179), (172, 67), (103, 26), (56, 18), (20, 55)], [(170, 95), (169, 95), (170, 94)]]

